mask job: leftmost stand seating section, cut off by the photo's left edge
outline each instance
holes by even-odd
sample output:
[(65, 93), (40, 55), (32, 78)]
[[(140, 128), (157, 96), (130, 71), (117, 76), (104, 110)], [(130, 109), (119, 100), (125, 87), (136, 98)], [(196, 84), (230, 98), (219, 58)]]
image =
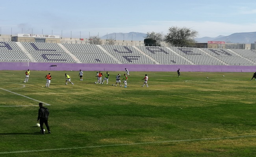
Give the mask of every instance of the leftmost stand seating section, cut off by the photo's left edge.
[(29, 58), (15, 42), (0, 42), (0, 62), (28, 62)]

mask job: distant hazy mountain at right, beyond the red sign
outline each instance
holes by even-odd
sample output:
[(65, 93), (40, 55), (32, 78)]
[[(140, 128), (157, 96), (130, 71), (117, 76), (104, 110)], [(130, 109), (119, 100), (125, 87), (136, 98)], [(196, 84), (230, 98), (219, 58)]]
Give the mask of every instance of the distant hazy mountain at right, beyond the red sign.
[(228, 36), (220, 35), (215, 38), (203, 37), (195, 38), (199, 43), (207, 43), (208, 41), (223, 41), (226, 43), (252, 44), (256, 40), (256, 32), (233, 33)]

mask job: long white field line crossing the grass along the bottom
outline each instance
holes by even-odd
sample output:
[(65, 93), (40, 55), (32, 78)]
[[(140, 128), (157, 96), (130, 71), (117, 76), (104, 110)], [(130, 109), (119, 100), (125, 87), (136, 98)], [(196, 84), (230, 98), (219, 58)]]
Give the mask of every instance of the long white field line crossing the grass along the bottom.
[(256, 137), (256, 135), (245, 135), (245, 136), (233, 136), (233, 137), (219, 137), (219, 138), (206, 138), (206, 139), (187, 139), (187, 140), (172, 140), (172, 141), (156, 141), (156, 142), (142, 142), (142, 143), (127, 143), (127, 144), (109, 144), (100, 146), (84, 146), (84, 147), (72, 147), (72, 148), (56, 148), (56, 149), (45, 149), (45, 150), (24, 150), (15, 152), (0, 152), (0, 154), (11, 154), (11, 153), (28, 153), (28, 152), (47, 152), (54, 150), (75, 150), (84, 148), (100, 148), (100, 147), (111, 147), (111, 146), (132, 146), (140, 144), (157, 144), (157, 143), (172, 143), (172, 142), (191, 142), (191, 141), (210, 141), (210, 140), (224, 140), (224, 139), (236, 139), (236, 138), (246, 138), (246, 137)]

